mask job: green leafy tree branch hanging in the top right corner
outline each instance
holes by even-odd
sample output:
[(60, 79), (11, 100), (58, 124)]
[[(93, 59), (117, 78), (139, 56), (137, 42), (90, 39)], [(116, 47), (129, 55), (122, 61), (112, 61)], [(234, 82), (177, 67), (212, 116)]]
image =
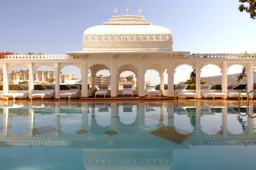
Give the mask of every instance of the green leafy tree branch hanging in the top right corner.
[[(250, 14), (250, 17), (252, 19), (255, 20), (256, 18), (256, 1), (255, 0), (239, 0), (239, 2), (241, 2), (241, 5), (239, 5), (238, 10), (240, 10), (240, 12), (247, 12)], [(246, 5), (249, 6), (245, 6), (244, 3), (246, 3)]]

